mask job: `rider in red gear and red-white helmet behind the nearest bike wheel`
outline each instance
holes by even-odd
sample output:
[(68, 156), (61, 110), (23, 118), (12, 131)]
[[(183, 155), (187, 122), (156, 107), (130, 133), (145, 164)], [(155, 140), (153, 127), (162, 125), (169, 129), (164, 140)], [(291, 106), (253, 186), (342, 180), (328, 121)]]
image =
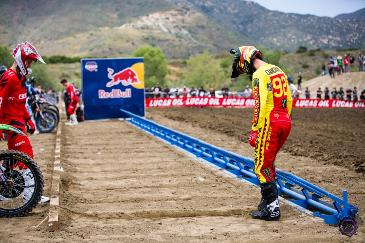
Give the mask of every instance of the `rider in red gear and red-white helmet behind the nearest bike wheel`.
[[(13, 57), (15, 59), (13, 65), (0, 77), (0, 123), (16, 127), (24, 133), (25, 126), (28, 126), (30, 133), (33, 134), (36, 128), (25, 108), (27, 99), (25, 75), (32, 72), (29, 68), (33, 61), (46, 63), (37, 53), (36, 48), (28, 42), (19, 44), (13, 51)], [(28, 137), (18, 135), (12, 131), (6, 130), (5, 132), (8, 135), (9, 150), (21, 151), (33, 159), (33, 149)], [(2, 130), (0, 130), (0, 140), (1, 138), (4, 139)], [(5, 171), (6, 168), (19, 166), (19, 173), (23, 176), (25, 184), (28, 185), (24, 189), (22, 196), (23, 202), (27, 203), (34, 191), (34, 187), (31, 187), (31, 183), (34, 184), (34, 180), (32, 174), (29, 173), (30, 169), (24, 164), (18, 163), (11, 165), (9, 160), (4, 160), (1, 168)], [(0, 198), (0, 200), (3, 199)], [(47, 201), (49, 201), (48, 197), (42, 197), (39, 203)]]

